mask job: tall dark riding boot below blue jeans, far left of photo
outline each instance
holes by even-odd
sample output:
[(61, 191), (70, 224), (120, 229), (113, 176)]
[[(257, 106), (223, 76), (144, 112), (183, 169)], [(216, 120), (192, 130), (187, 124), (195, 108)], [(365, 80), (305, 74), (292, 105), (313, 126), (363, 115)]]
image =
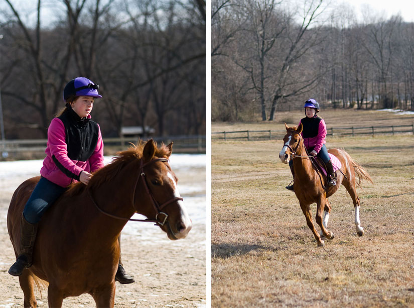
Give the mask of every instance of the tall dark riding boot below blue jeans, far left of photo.
[(38, 224), (29, 223), (22, 214), (20, 225), (20, 255), (16, 262), (10, 267), (9, 274), (20, 276), (25, 268), (33, 263), (33, 246), (36, 240)]

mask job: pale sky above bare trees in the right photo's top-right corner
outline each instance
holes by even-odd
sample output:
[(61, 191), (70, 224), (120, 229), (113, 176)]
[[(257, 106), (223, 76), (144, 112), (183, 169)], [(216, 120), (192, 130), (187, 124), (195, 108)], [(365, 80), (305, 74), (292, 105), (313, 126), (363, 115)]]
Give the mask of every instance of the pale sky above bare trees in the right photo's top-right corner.
[(386, 19), (400, 13), (405, 22), (414, 22), (413, 0), (337, 0), (338, 3), (347, 3), (355, 8), (358, 20), (362, 19), (362, 11), (368, 5), (371, 13), (384, 14)]

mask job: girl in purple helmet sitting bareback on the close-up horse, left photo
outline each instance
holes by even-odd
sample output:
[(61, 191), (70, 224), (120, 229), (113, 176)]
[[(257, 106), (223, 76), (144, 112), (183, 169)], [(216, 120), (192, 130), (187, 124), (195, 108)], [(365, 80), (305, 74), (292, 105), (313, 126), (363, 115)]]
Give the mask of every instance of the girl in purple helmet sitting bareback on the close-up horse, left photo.
[[(90, 116), (95, 98), (102, 97), (98, 88), (88, 78), (78, 77), (63, 90), (66, 107), (50, 123), (41, 178), (23, 210), (20, 255), (9, 269), (13, 276), (21, 275), (33, 263), (37, 228), (45, 211), (71, 183), (80, 181), (87, 185), (91, 173), (104, 166), (101, 131)], [(117, 280), (133, 282), (119, 266)]]

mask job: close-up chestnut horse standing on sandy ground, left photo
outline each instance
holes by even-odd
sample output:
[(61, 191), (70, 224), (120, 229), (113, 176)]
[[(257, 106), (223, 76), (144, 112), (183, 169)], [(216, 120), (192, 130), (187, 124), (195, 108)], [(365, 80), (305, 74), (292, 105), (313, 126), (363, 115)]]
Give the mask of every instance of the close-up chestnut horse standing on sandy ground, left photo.
[[(171, 240), (185, 238), (192, 222), (168, 164), (172, 143), (153, 140), (118, 153), (85, 186), (78, 182), (46, 211), (38, 228), (33, 265), (19, 276), (25, 307), (36, 307), (34, 282), (48, 282), (50, 307), (89, 293), (97, 307), (113, 307), (118, 236), (134, 213), (142, 214)], [(10, 202), (7, 225), (16, 256), (23, 208), (39, 177), (23, 182)], [(140, 221), (140, 220), (137, 220)]]

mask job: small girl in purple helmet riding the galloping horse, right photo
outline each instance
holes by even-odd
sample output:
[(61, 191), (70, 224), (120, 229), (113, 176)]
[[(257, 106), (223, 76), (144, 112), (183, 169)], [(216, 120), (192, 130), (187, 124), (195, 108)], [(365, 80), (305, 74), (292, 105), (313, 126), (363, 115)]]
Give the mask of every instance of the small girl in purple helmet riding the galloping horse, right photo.
[[(325, 145), (326, 124), (322, 118), (316, 115), (319, 112), (319, 103), (311, 98), (305, 101), (304, 108), (306, 117), (301, 119), (299, 125), (302, 123), (303, 126), (301, 135), (303, 137), (305, 148), (308, 150), (309, 155), (316, 155), (323, 160), (327, 168), (328, 185), (334, 186), (336, 185), (334, 167)], [(289, 166), (291, 167), (292, 175), (295, 178), (292, 160), (289, 161)], [(294, 184), (288, 185), (286, 188), (293, 190), (293, 185)]]

